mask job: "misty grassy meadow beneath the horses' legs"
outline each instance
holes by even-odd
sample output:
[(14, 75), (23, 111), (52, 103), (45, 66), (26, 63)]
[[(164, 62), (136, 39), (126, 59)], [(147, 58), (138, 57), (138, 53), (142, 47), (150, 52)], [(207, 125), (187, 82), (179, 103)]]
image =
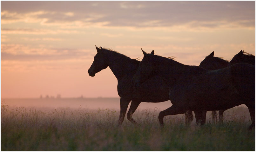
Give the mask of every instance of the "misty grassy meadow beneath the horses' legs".
[[(117, 103), (118, 104), (118, 103)], [(234, 107), (219, 124), (207, 113), (206, 125), (185, 115), (166, 116), (158, 108), (137, 109), (118, 127), (119, 109), (24, 107), (1, 103), (1, 151), (255, 151), (255, 130), (247, 131), (248, 109)], [(195, 119), (195, 118), (194, 118)]]

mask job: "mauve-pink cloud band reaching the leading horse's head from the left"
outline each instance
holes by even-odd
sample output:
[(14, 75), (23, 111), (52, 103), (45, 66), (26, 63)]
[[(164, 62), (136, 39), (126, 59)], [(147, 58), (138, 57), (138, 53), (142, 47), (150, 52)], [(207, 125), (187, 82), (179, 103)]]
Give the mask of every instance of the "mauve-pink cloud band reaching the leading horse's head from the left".
[(91, 59), (94, 54), (90, 50), (65, 49), (65, 48), (37, 48), (22, 44), (2, 44), (1, 60), (66, 60), (66, 59)]

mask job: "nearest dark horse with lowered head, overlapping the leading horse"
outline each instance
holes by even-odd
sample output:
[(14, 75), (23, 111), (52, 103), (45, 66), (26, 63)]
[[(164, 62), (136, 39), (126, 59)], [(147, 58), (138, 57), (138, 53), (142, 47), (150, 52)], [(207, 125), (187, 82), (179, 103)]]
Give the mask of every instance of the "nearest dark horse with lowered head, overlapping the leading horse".
[[(142, 49), (141, 49), (142, 50)], [(255, 65), (236, 63), (218, 70), (206, 70), (199, 66), (184, 65), (173, 59), (154, 55), (154, 50), (144, 57), (132, 78), (138, 88), (149, 78), (158, 75), (169, 86), (172, 106), (158, 115), (160, 126), (168, 115), (192, 110), (197, 124), (205, 124), (204, 110), (224, 110), (245, 104), (255, 127)]]

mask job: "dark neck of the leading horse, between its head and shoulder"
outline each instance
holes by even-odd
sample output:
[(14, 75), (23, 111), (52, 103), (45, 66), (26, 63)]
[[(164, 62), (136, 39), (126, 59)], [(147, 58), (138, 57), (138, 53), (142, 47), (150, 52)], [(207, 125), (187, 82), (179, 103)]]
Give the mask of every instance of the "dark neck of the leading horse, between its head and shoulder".
[(130, 70), (134, 66), (132, 59), (114, 51), (108, 52), (109, 53), (108, 57), (106, 58), (106, 62), (118, 80), (131, 72)]

